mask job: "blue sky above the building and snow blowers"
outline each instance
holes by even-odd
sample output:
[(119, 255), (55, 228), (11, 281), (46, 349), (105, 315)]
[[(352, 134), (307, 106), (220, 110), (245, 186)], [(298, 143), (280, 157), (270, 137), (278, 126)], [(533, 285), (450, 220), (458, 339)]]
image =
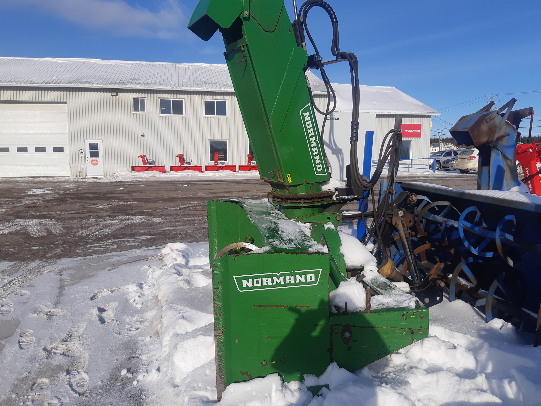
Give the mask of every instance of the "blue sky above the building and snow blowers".
[[(292, 17), (290, 3), (286, 0)], [(186, 29), (196, 4), (0, 0), (0, 56), (223, 63), (219, 35), (203, 42)], [(491, 94), (500, 105), (514, 96), (516, 108), (533, 106), (541, 113), (541, 2), (329, 4), (339, 19), (342, 50), (359, 58), (361, 84), (394, 86), (439, 110), (433, 135), (448, 134), (445, 122), (481, 108)], [(318, 48), (329, 56), (327, 15), (313, 9), (309, 17)], [(345, 63), (327, 72), (333, 82), (349, 81)], [(541, 120), (534, 126), (533, 132), (541, 133)]]

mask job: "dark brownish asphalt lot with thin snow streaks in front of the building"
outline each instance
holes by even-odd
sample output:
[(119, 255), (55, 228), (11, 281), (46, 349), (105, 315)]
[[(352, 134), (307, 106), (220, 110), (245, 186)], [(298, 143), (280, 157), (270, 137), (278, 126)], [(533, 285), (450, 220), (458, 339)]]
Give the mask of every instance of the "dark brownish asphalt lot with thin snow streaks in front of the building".
[[(457, 189), (476, 187), (474, 174), (406, 175)], [(54, 178), (0, 180), (0, 299), (62, 258), (174, 241), (207, 241), (206, 203), (266, 196), (259, 179), (135, 178), (96, 181)], [(350, 203), (345, 209), (356, 209)]]

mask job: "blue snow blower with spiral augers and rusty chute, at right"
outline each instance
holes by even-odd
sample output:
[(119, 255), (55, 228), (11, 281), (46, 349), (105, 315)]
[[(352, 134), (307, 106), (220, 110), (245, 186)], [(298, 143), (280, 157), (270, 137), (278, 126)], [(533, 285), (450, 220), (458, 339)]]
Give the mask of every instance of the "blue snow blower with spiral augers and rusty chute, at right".
[(532, 108), (513, 111), (515, 102), (511, 99), (496, 110), (491, 110), (494, 102), (490, 102), (461, 117), (450, 130), (459, 145), (479, 150), (477, 190), (395, 185), (394, 192), (418, 197), (411, 245), (403, 244), (398, 235), (387, 235), (388, 256), (380, 258), (388, 257), (389, 263), (380, 261), (380, 267), (385, 274), (392, 261), (404, 280), (420, 272), (421, 281), (412, 283), (412, 290), (424, 292), (428, 306), (441, 302), (448, 289), (451, 300), (462, 298), (484, 307), (487, 321), (520, 320), (531, 330), (537, 320), (539, 330), (541, 199), (514, 193), (524, 187), (514, 153), (518, 127)]

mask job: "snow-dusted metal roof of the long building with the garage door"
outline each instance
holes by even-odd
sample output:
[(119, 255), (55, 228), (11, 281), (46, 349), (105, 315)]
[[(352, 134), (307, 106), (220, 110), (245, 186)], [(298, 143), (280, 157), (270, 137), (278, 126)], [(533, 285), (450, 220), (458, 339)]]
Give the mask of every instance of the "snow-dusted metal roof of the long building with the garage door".
[[(308, 77), (314, 93), (325, 92)], [(0, 57), (0, 86), (234, 91), (225, 64), (77, 58)]]

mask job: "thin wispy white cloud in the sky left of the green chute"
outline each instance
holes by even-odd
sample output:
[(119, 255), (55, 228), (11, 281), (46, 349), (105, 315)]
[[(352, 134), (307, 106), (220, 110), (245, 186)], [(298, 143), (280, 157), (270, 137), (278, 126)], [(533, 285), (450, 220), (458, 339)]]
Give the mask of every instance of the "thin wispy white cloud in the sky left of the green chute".
[(173, 38), (182, 34), (186, 17), (177, 0), (164, 0), (155, 11), (123, 0), (17, 0), (91, 29), (137, 37)]

